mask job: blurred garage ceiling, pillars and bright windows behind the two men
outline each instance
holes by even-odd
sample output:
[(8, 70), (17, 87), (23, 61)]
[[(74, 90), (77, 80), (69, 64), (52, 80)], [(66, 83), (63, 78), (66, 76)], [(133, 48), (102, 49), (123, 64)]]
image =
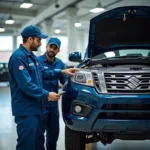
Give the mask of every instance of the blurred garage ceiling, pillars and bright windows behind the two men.
[[(29, 3), (29, 5), (23, 5)], [(84, 52), (88, 41), (89, 20), (102, 11), (126, 5), (150, 5), (149, 0), (0, 0), (0, 61), (8, 61), (22, 43), (20, 32), (37, 25), (49, 37), (62, 41), (58, 55), (66, 64), (68, 53)], [(37, 55), (45, 52), (46, 40)]]

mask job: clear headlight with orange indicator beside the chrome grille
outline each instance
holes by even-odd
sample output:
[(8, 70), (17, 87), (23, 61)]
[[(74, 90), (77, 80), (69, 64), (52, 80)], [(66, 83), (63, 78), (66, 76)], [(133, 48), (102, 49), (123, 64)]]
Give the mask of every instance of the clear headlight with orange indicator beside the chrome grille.
[(71, 79), (75, 83), (93, 86), (93, 77), (91, 72), (79, 71)]

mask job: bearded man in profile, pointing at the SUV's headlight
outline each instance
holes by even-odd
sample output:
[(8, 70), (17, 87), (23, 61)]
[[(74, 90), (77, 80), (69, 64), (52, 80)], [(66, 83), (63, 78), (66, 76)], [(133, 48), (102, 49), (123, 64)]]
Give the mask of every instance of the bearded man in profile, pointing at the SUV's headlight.
[(43, 113), (42, 101), (57, 101), (60, 95), (42, 88), (42, 80), (52, 80), (62, 74), (73, 75), (77, 69), (44, 69), (33, 51), (41, 45), (42, 34), (37, 26), (27, 26), (21, 33), (23, 44), (9, 59), (9, 82), (11, 90), (12, 114), (17, 124), (16, 150), (40, 150), (39, 125)]

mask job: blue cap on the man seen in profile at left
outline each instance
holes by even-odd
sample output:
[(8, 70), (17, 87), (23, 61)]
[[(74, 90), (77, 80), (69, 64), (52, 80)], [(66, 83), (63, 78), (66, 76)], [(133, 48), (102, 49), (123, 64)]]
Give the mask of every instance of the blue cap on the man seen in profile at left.
[(33, 25), (30, 25), (24, 28), (23, 31), (21, 32), (21, 35), (23, 38), (36, 36), (41, 39), (46, 39), (48, 37), (48, 35), (42, 34), (40, 29), (37, 26), (33, 26)]

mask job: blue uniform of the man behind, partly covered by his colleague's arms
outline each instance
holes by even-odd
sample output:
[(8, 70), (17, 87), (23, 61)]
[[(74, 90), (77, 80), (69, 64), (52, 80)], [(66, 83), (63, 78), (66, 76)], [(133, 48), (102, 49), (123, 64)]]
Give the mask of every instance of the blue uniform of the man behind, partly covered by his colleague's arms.
[[(65, 69), (65, 64), (58, 58), (53, 62), (48, 62), (46, 53), (38, 57), (39, 63), (47, 70)], [(61, 75), (57, 79), (47, 80), (43, 79), (43, 86), (45, 90), (58, 93), (58, 81), (64, 84), (67, 80), (67, 75)], [(56, 143), (59, 135), (59, 111), (58, 102), (43, 100), (44, 113), (41, 117), (41, 147), (44, 150), (44, 132), (46, 130), (46, 148), (47, 150), (56, 150)]]

